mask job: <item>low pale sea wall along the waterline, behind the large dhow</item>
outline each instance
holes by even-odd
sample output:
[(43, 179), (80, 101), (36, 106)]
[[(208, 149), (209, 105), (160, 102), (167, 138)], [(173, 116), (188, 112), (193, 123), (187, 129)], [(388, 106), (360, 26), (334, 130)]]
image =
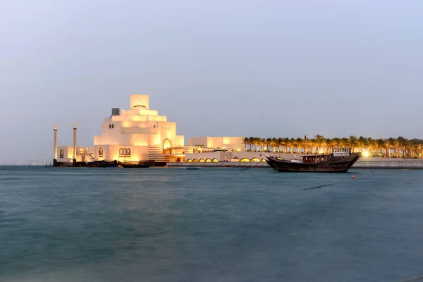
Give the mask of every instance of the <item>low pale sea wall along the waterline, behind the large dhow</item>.
[[(219, 161), (217, 163), (168, 163), (171, 167), (251, 167), (270, 168), (266, 162), (234, 162)], [(357, 161), (353, 168), (396, 168), (396, 169), (423, 169), (423, 160), (419, 159), (385, 159), (368, 158)]]

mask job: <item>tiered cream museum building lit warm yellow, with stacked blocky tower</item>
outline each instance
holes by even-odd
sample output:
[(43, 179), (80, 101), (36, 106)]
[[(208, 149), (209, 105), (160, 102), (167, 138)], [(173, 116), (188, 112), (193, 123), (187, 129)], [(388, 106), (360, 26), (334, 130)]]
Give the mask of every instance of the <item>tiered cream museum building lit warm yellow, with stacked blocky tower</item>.
[(176, 123), (149, 109), (149, 95), (131, 94), (130, 109), (112, 109), (104, 118), (102, 135), (94, 136), (94, 159), (108, 161), (169, 161), (164, 154), (183, 147), (183, 135), (176, 135)]

